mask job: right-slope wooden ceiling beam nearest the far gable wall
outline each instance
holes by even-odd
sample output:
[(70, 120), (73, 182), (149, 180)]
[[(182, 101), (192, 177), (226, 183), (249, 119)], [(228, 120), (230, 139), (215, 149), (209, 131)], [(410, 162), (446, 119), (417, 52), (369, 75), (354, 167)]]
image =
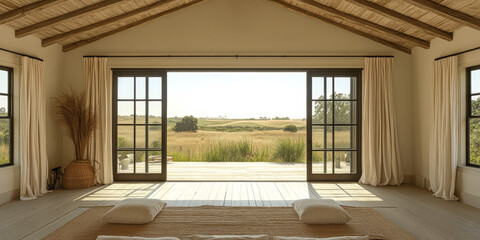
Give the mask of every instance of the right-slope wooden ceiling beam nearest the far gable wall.
[(344, 30), (346, 30), (346, 31), (349, 31), (349, 32), (352, 32), (352, 33), (354, 33), (354, 34), (363, 36), (363, 37), (365, 37), (365, 38), (368, 38), (368, 39), (370, 39), (370, 40), (372, 40), (372, 41), (378, 42), (378, 43), (383, 44), (383, 45), (385, 45), (385, 46), (388, 46), (388, 47), (397, 49), (397, 50), (399, 50), (399, 51), (401, 51), (401, 52), (404, 52), (404, 53), (407, 53), (407, 54), (411, 54), (411, 49), (409, 49), (409, 48), (407, 48), (407, 47), (404, 47), (404, 46), (402, 46), (402, 45), (400, 45), (400, 44), (397, 44), (397, 43), (394, 43), (394, 42), (390, 42), (390, 41), (387, 41), (387, 40), (385, 40), (385, 39), (383, 39), (383, 38), (380, 38), (380, 37), (377, 37), (377, 36), (368, 34), (368, 33), (366, 33), (366, 32), (360, 31), (360, 30), (358, 30), (358, 29), (356, 29), (356, 28), (347, 26), (347, 25), (345, 25), (345, 24), (343, 24), (343, 23), (336, 22), (336, 21), (334, 21), (334, 20), (332, 20), (332, 19), (330, 19), (330, 18), (321, 16), (321, 15), (319, 15), (319, 14), (316, 14), (316, 13), (313, 13), (313, 12), (310, 12), (310, 11), (307, 11), (307, 10), (305, 10), (305, 9), (303, 9), (303, 8), (300, 8), (300, 7), (297, 7), (297, 6), (295, 6), (295, 5), (286, 3), (286, 2), (284, 2), (284, 1), (282, 1), (282, 0), (270, 0), (270, 1), (275, 2), (275, 3), (277, 3), (277, 4), (280, 4), (280, 5), (282, 5), (282, 6), (286, 7), (286, 8), (289, 8), (289, 9), (291, 9), (291, 10), (294, 10), (294, 11), (296, 11), (296, 12), (300, 12), (300, 13), (306, 15), (306, 16), (314, 17), (314, 18), (319, 19), (319, 20), (321, 20), (321, 21), (323, 21), (323, 22), (326, 22), (326, 23), (332, 24), (332, 25), (334, 25), (334, 26), (337, 26), (337, 27), (339, 27), (339, 28), (342, 28), (342, 29), (344, 29)]

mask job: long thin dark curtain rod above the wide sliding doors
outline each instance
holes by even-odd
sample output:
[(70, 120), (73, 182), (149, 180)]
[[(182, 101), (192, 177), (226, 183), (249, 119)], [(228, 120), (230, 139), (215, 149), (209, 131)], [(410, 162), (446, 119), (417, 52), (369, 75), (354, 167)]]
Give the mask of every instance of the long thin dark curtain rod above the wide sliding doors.
[(366, 58), (366, 57), (388, 57), (394, 56), (369, 56), (369, 55), (113, 55), (113, 56), (83, 56), (104, 57), (104, 58)]

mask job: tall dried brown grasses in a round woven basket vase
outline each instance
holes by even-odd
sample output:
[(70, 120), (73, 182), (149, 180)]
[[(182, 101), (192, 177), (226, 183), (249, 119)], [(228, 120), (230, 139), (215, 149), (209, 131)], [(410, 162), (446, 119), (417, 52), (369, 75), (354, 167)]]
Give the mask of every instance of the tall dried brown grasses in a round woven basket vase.
[(56, 99), (56, 111), (64, 123), (68, 136), (73, 141), (75, 159), (71, 161), (63, 175), (66, 189), (88, 188), (95, 183), (95, 171), (86, 159), (90, 136), (96, 126), (96, 117), (87, 106), (85, 94), (73, 89), (64, 90)]

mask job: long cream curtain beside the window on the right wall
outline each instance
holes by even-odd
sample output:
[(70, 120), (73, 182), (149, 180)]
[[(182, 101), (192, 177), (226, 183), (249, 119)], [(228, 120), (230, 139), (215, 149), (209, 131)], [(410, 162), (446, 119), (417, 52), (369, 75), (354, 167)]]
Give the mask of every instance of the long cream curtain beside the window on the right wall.
[(430, 129), (430, 189), (435, 197), (457, 200), (454, 195), (460, 158), (460, 78), (457, 57), (435, 61), (433, 115)]

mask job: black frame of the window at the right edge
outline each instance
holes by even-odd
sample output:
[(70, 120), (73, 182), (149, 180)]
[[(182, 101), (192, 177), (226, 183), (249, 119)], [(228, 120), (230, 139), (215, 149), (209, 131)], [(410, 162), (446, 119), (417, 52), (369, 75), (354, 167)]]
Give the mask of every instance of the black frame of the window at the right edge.
[(472, 94), (472, 71), (475, 70), (480, 70), (480, 65), (477, 66), (472, 66), (468, 67), (466, 69), (466, 122), (465, 122), (465, 127), (466, 127), (466, 165), (469, 167), (476, 167), (480, 168), (480, 164), (473, 164), (470, 162), (470, 119), (480, 119), (480, 116), (473, 116), (472, 115), (472, 96), (479, 96), (480, 97), (480, 92), (478, 93), (473, 93)]

